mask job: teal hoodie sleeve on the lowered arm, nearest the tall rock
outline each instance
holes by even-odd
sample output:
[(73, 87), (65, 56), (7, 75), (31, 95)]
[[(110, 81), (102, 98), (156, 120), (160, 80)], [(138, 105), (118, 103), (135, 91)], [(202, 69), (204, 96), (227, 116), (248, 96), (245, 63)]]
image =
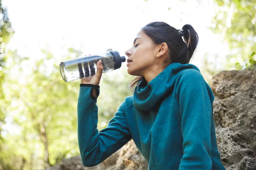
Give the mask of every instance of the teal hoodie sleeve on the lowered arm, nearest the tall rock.
[(209, 93), (212, 91), (199, 71), (188, 69), (181, 73), (176, 90), (183, 136), (179, 170), (212, 169), (212, 102)]

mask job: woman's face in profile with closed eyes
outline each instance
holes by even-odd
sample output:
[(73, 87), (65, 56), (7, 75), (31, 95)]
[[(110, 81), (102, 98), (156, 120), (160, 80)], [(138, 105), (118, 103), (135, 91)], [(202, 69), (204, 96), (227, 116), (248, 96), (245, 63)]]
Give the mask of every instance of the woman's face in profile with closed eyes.
[(139, 31), (134, 39), (133, 46), (125, 51), (128, 56), (127, 72), (134, 76), (144, 76), (147, 71), (154, 70), (157, 49), (153, 41), (143, 32)]

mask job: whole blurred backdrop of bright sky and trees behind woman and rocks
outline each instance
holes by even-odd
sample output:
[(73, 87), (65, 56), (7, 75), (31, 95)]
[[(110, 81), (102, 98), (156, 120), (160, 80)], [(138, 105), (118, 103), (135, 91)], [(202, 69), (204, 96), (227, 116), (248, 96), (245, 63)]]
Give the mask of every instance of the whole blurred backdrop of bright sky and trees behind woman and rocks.
[[(190, 63), (209, 84), (219, 71), (256, 64), (255, 0), (0, 0), (0, 170), (43, 170), (79, 155), (80, 80), (64, 82), (59, 63), (108, 48), (125, 56), (152, 21), (195, 28)], [(99, 130), (132, 95), (126, 69), (102, 75)]]

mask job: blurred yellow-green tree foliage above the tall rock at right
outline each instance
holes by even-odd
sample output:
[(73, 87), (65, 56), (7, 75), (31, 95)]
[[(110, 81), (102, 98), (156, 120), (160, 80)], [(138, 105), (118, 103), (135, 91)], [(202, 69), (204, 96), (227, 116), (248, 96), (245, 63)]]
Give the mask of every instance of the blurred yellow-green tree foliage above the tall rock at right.
[(215, 3), (218, 8), (212, 30), (220, 33), (230, 46), (226, 68), (250, 68), (256, 64), (256, 0), (215, 0)]

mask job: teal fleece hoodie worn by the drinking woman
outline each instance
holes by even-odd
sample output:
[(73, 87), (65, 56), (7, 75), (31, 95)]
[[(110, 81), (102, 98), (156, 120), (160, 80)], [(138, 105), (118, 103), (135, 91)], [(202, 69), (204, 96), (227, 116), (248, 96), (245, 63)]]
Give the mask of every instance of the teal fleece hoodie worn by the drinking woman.
[(95, 166), (133, 139), (149, 170), (225, 170), (212, 114), (214, 95), (199, 69), (172, 63), (141, 80), (108, 126), (98, 131), (99, 86), (80, 85), (78, 142), (82, 164)]

